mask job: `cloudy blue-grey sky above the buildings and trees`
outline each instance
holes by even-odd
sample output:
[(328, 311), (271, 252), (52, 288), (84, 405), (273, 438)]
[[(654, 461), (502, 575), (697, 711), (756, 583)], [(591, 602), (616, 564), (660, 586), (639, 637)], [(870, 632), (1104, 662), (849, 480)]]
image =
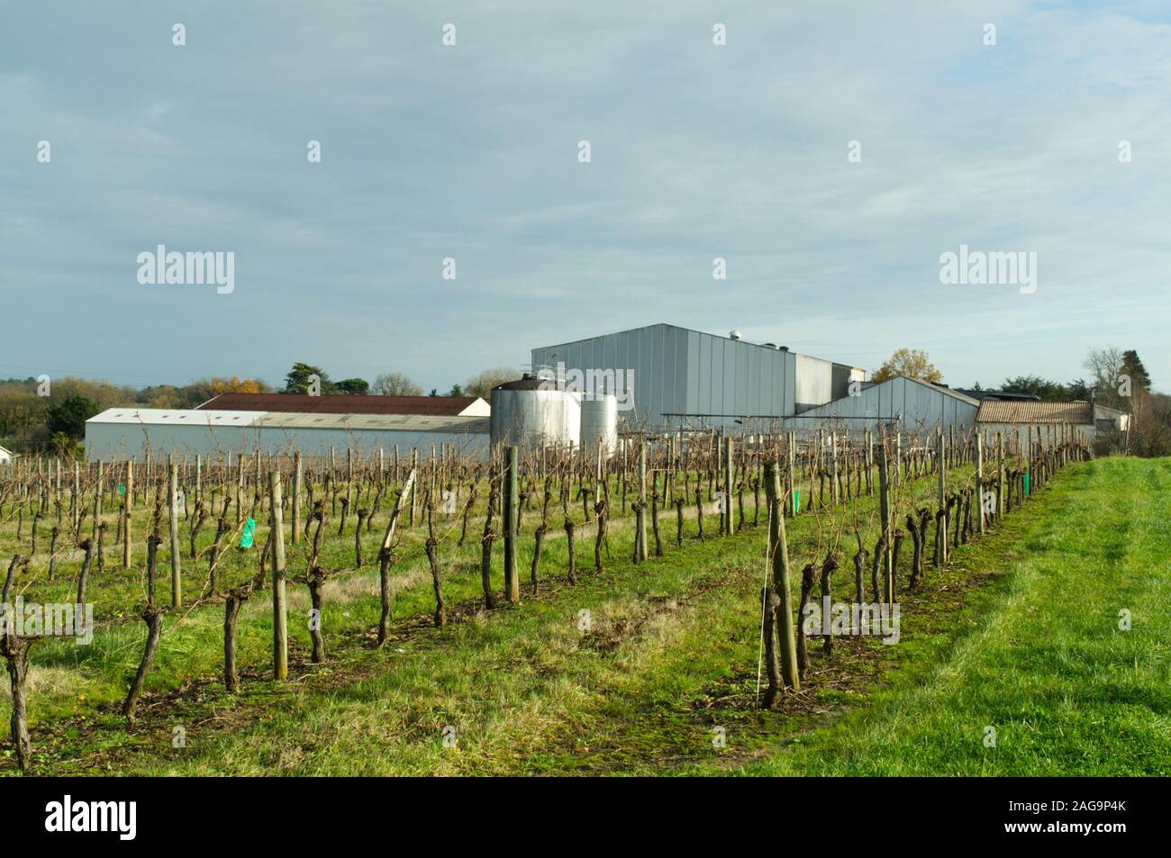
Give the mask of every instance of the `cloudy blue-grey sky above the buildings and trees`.
[[(0, 378), (443, 391), (667, 322), (1171, 390), (1171, 5), (553, 6), (5, 0)], [(139, 282), (159, 245), (233, 290)], [(941, 283), (961, 246), (1035, 290)]]

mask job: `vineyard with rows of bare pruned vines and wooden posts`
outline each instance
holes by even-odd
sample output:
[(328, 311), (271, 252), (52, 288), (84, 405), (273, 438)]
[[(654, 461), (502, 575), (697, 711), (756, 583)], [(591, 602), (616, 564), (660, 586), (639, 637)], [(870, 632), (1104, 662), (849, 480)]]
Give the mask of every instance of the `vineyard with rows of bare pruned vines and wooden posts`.
[(1104, 461), (1028, 437), (25, 458), (0, 469), (4, 770), (766, 766), (926, 670)]

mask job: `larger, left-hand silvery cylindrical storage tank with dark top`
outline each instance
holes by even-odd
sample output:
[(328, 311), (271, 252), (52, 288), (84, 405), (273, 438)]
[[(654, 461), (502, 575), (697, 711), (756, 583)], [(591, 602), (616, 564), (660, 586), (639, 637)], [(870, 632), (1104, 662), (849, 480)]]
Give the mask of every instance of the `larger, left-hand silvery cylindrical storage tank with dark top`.
[(580, 445), (581, 394), (561, 387), (527, 373), (493, 387), (492, 444)]

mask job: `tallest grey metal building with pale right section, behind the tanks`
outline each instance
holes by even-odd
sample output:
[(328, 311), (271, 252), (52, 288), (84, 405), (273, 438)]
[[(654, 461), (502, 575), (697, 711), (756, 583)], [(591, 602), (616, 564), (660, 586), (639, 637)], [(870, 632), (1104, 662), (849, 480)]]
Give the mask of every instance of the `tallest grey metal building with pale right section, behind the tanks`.
[[(673, 324), (533, 349), (535, 372), (618, 393), (619, 420), (651, 427), (762, 428), (845, 396), (863, 370)], [(625, 387), (623, 386), (625, 385)], [(578, 380), (578, 386), (581, 386)], [(629, 390), (629, 399), (623, 392)]]

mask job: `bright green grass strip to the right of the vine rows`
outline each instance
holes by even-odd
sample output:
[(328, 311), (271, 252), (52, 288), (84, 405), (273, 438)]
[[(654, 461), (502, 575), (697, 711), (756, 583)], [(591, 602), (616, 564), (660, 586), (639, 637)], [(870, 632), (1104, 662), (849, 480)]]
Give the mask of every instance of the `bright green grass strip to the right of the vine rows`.
[(1045, 502), (940, 664), (745, 774), (1171, 774), (1171, 460), (1087, 462)]

